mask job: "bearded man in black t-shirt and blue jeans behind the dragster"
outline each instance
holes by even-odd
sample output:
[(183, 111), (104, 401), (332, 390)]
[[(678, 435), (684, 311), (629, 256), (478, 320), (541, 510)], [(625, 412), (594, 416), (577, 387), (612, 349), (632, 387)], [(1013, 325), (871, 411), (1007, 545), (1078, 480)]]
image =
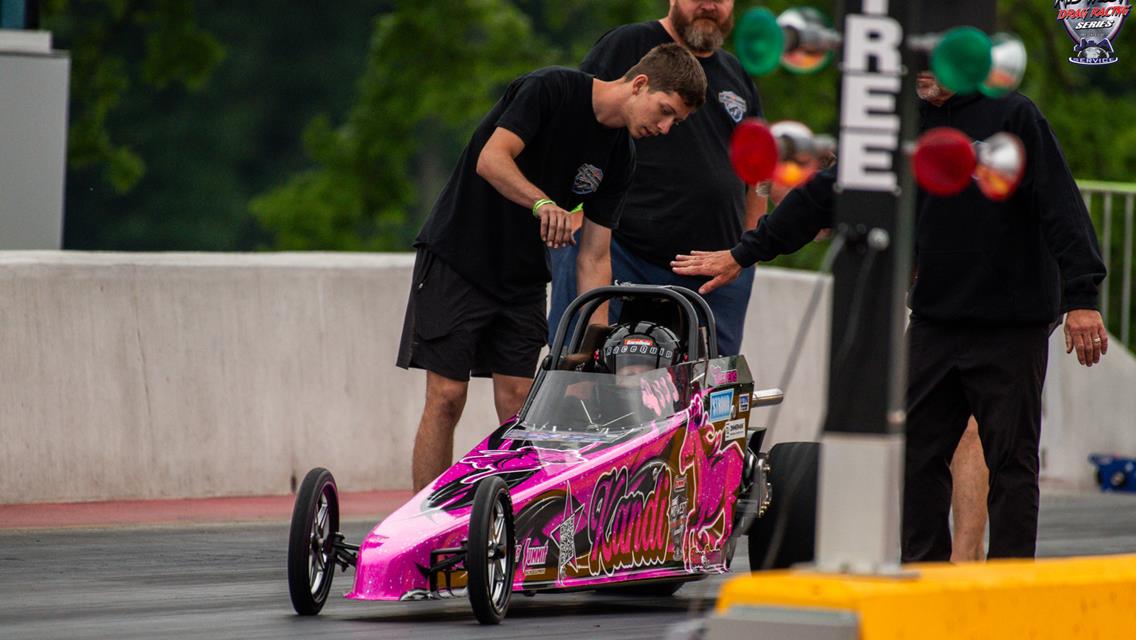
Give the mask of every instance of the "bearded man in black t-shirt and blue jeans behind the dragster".
[[(604, 34), (580, 64), (582, 70), (613, 80), (652, 47), (677, 42), (698, 57), (709, 85), (709, 103), (683, 126), (665, 139), (636, 142), (635, 178), (619, 228), (612, 232), (611, 268), (617, 281), (698, 289), (704, 279), (676, 276), (670, 259), (694, 249), (733, 247), (765, 211), (765, 199), (754, 189), (747, 193), (729, 164), (734, 127), (742, 118), (761, 116), (753, 81), (737, 58), (720, 49), (734, 25), (733, 10), (733, 0), (673, 0), (662, 19)], [(552, 331), (576, 297), (574, 253), (573, 247), (552, 252)], [(752, 288), (753, 269), (746, 269), (737, 282), (707, 297), (722, 354), (741, 350)]]

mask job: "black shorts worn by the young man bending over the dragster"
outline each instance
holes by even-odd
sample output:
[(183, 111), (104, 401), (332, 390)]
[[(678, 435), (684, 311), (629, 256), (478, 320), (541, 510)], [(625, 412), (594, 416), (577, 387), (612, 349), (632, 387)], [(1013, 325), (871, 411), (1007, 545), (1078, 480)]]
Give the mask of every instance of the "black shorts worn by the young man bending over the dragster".
[(532, 377), (549, 331), (545, 294), (535, 296), (502, 302), (420, 248), (396, 364), (461, 381), (494, 373)]

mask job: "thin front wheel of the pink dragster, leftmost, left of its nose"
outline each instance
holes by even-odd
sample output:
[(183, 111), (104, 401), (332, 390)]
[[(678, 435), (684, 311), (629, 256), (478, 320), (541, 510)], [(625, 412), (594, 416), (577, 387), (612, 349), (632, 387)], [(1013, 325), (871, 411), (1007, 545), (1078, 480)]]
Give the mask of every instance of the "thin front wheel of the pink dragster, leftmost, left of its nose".
[(340, 493), (332, 472), (314, 468), (304, 476), (292, 508), (287, 543), (287, 585), (292, 608), (316, 615), (324, 608), (335, 574), (335, 533)]

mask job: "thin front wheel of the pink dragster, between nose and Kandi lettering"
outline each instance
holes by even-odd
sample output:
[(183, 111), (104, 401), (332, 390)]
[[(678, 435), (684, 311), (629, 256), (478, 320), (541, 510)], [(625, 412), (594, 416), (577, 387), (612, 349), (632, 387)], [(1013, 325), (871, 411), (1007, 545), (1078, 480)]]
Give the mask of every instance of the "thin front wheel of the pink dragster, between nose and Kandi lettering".
[(469, 604), (477, 622), (504, 620), (512, 597), (513, 529), (509, 488), (498, 476), (477, 483), (466, 543)]

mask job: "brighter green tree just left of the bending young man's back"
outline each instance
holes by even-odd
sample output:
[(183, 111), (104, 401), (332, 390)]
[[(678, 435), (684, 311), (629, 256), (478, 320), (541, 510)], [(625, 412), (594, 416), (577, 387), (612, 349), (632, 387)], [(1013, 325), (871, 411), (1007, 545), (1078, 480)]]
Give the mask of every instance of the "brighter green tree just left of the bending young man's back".
[(507, 0), (394, 2), (346, 122), (304, 131), (315, 167), (252, 203), (274, 248), (406, 250), (478, 118), (548, 58)]

